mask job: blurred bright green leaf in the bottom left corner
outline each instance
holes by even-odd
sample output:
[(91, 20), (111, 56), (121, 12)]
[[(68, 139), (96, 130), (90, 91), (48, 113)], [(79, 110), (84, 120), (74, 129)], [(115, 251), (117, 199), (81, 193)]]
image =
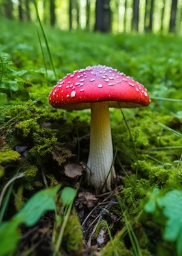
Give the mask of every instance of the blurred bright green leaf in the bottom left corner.
[(20, 238), (18, 225), (21, 221), (21, 217), (14, 217), (0, 226), (0, 256), (7, 255), (16, 249)]

